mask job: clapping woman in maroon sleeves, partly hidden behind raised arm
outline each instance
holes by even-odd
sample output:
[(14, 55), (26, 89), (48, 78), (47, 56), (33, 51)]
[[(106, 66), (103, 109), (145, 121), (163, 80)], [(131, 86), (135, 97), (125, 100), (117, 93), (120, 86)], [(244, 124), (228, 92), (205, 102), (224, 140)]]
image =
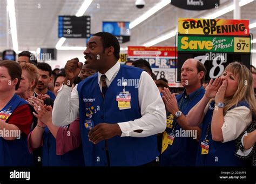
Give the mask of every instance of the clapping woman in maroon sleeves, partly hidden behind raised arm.
[[(57, 91), (65, 79), (65, 73), (60, 72), (54, 80), (54, 92)], [(79, 120), (68, 126), (58, 127), (52, 124), (52, 107), (43, 105), (43, 100), (36, 97), (29, 98), (34, 106), (38, 124), (29, 134), (29, 149), (43, 146), (42, 166), (84, 166), (83, 151), (79, 130)]]

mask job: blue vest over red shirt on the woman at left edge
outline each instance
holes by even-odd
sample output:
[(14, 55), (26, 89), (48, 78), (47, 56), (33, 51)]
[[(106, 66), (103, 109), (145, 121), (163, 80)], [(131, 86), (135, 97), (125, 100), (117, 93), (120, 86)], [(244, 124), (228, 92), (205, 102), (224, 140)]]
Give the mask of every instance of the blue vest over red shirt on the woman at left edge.
[[(8, 117), (15, 109), (23, 104), (28, 104), (25, 100), (14, 94), (14, 97), (1, 110), (1, 118), (8, 123)], [(6, 114), (6, 115), (5, 115)], [(4, 133), (4, 130), (1, 130)], [(20, 132), (19, 132), (20, 133)], [(0, 166), (31, 166), (33, 162), (32, 154), (29, 154), (28, 141), (24, 133), (20, 139), (5, 140), (0, 137)]]

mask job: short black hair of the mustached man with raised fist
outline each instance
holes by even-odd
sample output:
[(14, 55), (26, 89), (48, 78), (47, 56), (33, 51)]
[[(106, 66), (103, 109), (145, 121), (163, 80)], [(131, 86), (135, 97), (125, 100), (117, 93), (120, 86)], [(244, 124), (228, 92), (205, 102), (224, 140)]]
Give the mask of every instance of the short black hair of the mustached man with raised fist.
[(105, 50), (107, 47), (114, 47), (114, 57), (119, 59), (120, 53), (120, 44), (117, 38), (109, 32), (97, 32), (93, 36), (99, 36), (102, 40), (103, 49)]

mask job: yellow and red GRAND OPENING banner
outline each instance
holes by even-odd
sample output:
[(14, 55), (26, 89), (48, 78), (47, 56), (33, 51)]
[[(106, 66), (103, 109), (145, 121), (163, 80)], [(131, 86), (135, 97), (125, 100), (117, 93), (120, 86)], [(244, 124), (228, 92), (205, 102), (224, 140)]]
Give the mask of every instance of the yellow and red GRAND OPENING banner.
[(178, 32), (188, 35), (246, 35), (249, 20), (178, 18)]

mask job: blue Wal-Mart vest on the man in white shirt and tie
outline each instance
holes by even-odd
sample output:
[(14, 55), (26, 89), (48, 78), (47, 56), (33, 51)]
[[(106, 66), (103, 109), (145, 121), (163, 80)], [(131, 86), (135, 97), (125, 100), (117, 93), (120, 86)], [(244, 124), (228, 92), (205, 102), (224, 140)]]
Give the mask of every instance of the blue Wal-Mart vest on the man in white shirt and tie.
[[(89, 142), (89, 130), (85, 128), (86, 113), (92, 114), (94, 125), (101, 122), (116, 124), (139, 119), (138, 81), (143, 70), (136, 67), (121, 65), (117, 76), (108, 87), (103, 99), (99, 84), (98, 73), (86, 78), (78, 84), (80, 131), (83, 142), (85, 166), (107, 166), (105, 141), (94, 145)], [(119, 110), (116, 101), (117, 93), (123, 91), (122, 80), (127, 79), (125, 91), (131, 93), (131, 108)], [(132, 85), (137, 83), (137, 86)], [(137, 82), (136, 82), (137, 81)], [(131, 85), (130, 85), (131, 84)], [(150, 90), (150, 89), (149, 89)], [(149, 97), (150, 98), (150, 97)], [(156, 122), (157, 123), (157, 122)], [(157, 137), (113, 137), (107, 140), (110, 166), (139, 166), (151, 162), (159, 155)]]

